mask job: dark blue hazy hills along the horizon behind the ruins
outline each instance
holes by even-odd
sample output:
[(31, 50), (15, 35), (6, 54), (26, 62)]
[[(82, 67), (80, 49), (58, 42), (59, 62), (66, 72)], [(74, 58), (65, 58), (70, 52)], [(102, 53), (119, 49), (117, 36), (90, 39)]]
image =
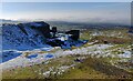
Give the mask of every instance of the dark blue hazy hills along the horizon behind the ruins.
[(130, 28), (130, 26), (114, 23), (86, 23), (86, 22), (68, 22), (68, 21), (47, 21), (51, 26), (58, 27), (60, 30), (69, 29), (121, 29)]

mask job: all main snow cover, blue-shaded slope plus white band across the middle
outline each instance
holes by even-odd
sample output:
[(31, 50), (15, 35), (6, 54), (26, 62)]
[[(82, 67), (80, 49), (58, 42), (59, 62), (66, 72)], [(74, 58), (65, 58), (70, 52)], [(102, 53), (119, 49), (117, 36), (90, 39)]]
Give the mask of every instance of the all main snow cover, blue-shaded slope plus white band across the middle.
[[(40, 23), (31, 22), (23, 23), (23, 29), (27, 31), (22, 31), (18, 24), (3, 26), (2, 28), (2, 51), (0, 51), (0, 68), (3, 70), (12, 69), (17, 67), (27, 67), (37, 63), (41, 63), (49, 59), (55, 59), (62, 55), (68, 54), (90, 54), (92, 57), (117, 57), (117, 58), (131, 58), (131, 51), (124, 51), (124, 53), (112, 54), (113, 50), (105, 50), (108, 48), (114, 47), (112, 44), (93, 44), (94, 42), (90, 42), (90, 47), (82, 47), (76, 49), (71, 49), (72, 45), (81, 47), (86, 41), (64, 41), (65, 45), (61, 45), (62, 49), (58, 49), (53, 53), (40, 53), (41, 51), (51, 51), (54, 48), (45, 44), (45, 38), (41, 32), (30, 28), (31, 26), (40, 27)], [(103, 33), (92, 33), (92, 36), (99, 36)], [(120, 33), (121, 34), (121, 33)], [(64, 51), (64, 49), (68, 49)], [(25, 57), (24, 52), (31, 52), (28, 57)]]

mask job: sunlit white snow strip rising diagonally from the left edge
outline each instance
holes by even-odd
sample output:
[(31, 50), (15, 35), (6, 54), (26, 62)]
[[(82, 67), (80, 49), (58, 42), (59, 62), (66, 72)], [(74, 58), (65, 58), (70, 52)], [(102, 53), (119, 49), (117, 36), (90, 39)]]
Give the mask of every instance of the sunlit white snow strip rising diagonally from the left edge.
[[(111, 44), (94, 44), (91, 47), (86, 47), (86, 48), (81, 48), (81, 49), (73, 49), (73, 50), (63, 50), (60, 49), (58, 51), (55, 51), (54, 53), (31, 53), (29, 57), (24, 57), (23, 54), (20, 54), (19, 57), (11, 59), (9, 61), (2, 62), (0, 63), (0, 67), (2, 67), (3, 70), (6, 69), (11, 69), (11, 68), (17, 68), (17, 67), (27, 67), (27, 65), (32, 65), (32, 64), (37, 64), (37, 63), (41, 63), (43, 61), (47, 61), (49, 59), (53, 59), (53, 58), (59, 58), (62, 55), (68, 55), (68, 54), (103, 54), (104, 49), (108, 49), (110, 47), (113, 47)], [(94, 51), (96, 50), (96, 51)], [(40, 51), (40, 50), (39, 50)], [(21, 52), (21, 51), (18, 51)], [(22, 52), (21, 52), (22, 53)]]

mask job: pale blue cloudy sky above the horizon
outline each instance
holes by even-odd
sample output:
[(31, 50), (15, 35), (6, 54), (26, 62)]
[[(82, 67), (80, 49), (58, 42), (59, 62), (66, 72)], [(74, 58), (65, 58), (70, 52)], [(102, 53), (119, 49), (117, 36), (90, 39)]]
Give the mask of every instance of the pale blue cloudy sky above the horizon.
[(130, 2), (3, 2), (0, 19), (130, 24)]

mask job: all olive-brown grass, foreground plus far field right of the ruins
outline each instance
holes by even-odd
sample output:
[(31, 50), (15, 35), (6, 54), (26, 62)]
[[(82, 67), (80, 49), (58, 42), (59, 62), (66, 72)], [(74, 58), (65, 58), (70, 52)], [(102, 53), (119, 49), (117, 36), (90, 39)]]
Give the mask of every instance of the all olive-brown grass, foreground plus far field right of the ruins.
[[(117, 49), (123, 48), (126, 49), (129, 44), (129, 41), (131, 42), (131, 39), (129, 39), (126, 32), (126, 29), (122, 30), (100, 30), (103, 33), (110, 34), (112, 31), (115, 32), (123, 32), (124, 38), (116, 38), (116, 37), (106, 37), (106, 36), (99, 36), (96, 37), (96, 40), (109, 40), (109, 41), (116, 41), (116, 45), (111, 47), (106, 50), (114, 50), (111, 51), (112, 54), (115, 54)], [(94, 41), (95, 37), (90, 36), (90, 33), (93, 32), (93, 30), (85, 30), (81, 34), (81, 39), (83, 40), (89, 40), (89, 41)], [(127, 39), (125, 39), (127, 38)], [(93, 40), (92, 40), (93, 39)], [(124, 42), (124, 43), (119, 43), (119, 42)], [(127, 42), (127, 43), (126, 43)], [(99, 42), (100, 43), (100, 42)], [(95, 43), (93, 43), (95, 44)], [(80, 48), (86, 48), (91, 47), (93, 44), (90, 44), (89, 42)], [(114, 44), (114, 43), (113, 43)], [(76, 49), (76, 47), (73, 47), (71, 50)], [(40, 51), (38, 53), (54, 53), (55, 51), (61, 50), (60, 48), (53, 49), (51, 51)], [(35, 53), (34, 51), (31, 52), (24, 52), (23, 54), (29, 55), (31, 53)], [(93, 53), (92, 53), (93, 54)], [(79, 57), (88, 57), (88, 59), (83, 60), (83, 62), (75, 62), (74, 60)], [(25, 68), (16, 68), (11, 70), (4, 70), (2, 73), (3, 79), (44, 79), (44, 78), (55, 78), (58, 77), (59, 79), (117, 79), (117, 78), (127, 78), (131, 79), (133, 77), (133, 69), (127, 69), (123, 70), (120, 68), (116, 68), (112, 65), (112, 63), (116, 63), (117, 61), (121, 60), (120, 58), (91, 58), (90, 55), (65, 55), (65, 57), (60, 57), (57, 59), (51, 59), (45, 62), (42, 62), (40, 64), (34, 64), (31, 67), (25, 67)], [(112, 63), (111, 63), (112, 61)], [(48, 63), (47, 63), (48, 62)], [(74, 68), (71, 68), (66, 70), (63, 74), (61, 75), (49, 75), (45, 77), (43, 74), (39, 74), (40, 72), (45, 72), (49, 71), (50, 68), (58, 69), (62, 65), (71, 65), (71, 64), (76, 64)]]

